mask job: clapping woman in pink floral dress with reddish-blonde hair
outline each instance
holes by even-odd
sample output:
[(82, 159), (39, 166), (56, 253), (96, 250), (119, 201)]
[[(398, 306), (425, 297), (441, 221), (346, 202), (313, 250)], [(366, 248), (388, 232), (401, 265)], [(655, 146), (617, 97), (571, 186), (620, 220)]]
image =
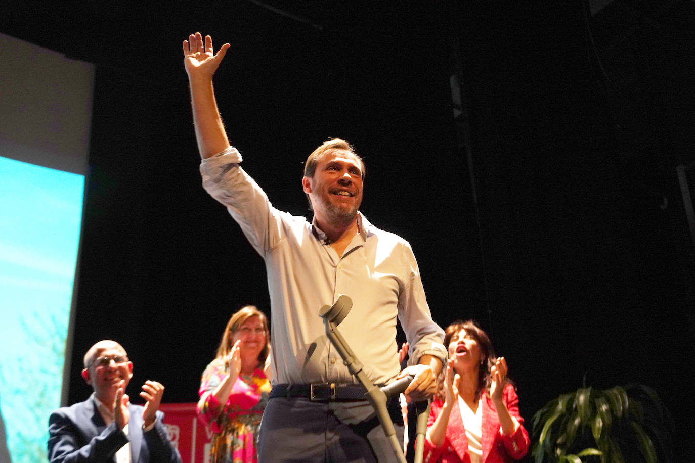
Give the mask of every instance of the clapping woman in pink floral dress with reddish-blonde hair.
[(268, 319), (253, 305), (227, 322), (198, 394), (198, 417), (213, 431), (211, 463), (256, 462), (261, 415), (270, 393)]

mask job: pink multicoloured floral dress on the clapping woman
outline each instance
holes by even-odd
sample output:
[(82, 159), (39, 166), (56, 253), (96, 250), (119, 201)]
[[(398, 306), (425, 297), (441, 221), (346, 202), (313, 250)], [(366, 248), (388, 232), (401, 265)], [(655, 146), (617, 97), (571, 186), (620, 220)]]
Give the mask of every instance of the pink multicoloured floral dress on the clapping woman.
[(200, 380), (198, 418), (210, 426), (213, 439), (211, 463), (256, 463), (256, 441), (270, 382), (261, 369), (252, 376), (236, 379), (224, 407), (212, 392), (227, 375), (227, 363), (220, 359), (208, 364)]

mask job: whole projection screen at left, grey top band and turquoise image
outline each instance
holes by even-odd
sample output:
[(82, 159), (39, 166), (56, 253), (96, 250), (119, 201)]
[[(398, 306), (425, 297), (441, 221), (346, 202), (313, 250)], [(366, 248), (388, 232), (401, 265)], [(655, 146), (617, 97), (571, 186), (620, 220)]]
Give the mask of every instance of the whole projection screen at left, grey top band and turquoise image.
[(93, 65), (0, 34), (1, 463), (45, 462), (67, 405), (93, 81)]

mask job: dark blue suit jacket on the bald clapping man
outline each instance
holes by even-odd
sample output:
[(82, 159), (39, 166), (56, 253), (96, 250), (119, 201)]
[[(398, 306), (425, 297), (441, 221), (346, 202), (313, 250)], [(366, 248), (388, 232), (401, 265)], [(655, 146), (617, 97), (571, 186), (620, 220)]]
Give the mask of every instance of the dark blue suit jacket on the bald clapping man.
[(49, 462), (115, 462), (116, 451), (130, 441), (131, 463), (181, 463), (179, 452), (172, 446), (162, 423), (164, 414), (157, 412), (154, 428), (142, 432), (143, 408), (133, 404), (128, 407), (128, 435), (117, 429), (115, 423), (106, 426), (94, 394), (84, 402), (51, 413)]

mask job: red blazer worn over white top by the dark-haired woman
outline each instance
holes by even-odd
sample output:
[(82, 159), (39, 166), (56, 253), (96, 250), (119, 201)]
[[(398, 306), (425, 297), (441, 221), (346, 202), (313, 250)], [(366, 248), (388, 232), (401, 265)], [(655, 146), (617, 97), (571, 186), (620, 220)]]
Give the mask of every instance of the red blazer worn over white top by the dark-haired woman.
[[(519, 414), (518, 396), (514, 391), (514, 386), (505, 386), (502, 398), (507, 404), (509, 414), (516, 418), (521, 426), (511, 436), (502, 435), (500, 430), (500, 419), (495, 411), (491, 398), (483, 392), (482, 396), (482, 461), (483, 463), (509, 463), (514, 460), (521, 460), (526, 452), (530, 441), (528, 432), (523, 427), (523, 418)], [(434, 420), (441, 413), (444, 403), (434, 400), (432, 411), (427, 426), (432, 426)], [(446, 436), (441, 447), (436, 448), (430, 441), (425, 439), (425, 463), (471, 463), (471, 456), (468, 454), (468, 439), (464, 429), (464, 421), (461, 419), (459, 402), (456, 401), (449, 415), (449, 423), (446, 426)]]

